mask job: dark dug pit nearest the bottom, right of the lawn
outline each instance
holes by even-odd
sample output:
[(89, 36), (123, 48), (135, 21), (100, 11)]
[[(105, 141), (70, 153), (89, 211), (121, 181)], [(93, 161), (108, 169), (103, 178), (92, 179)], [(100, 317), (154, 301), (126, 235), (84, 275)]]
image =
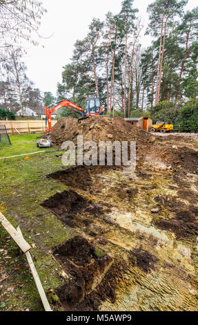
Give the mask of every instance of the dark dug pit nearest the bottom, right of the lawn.
[(67, 283), (56, 290), (67, 310), (74, 309), (101, 284), (113, 263), (109, 254), (81, 236), (57, 246), (53, 254), (68, 275)]

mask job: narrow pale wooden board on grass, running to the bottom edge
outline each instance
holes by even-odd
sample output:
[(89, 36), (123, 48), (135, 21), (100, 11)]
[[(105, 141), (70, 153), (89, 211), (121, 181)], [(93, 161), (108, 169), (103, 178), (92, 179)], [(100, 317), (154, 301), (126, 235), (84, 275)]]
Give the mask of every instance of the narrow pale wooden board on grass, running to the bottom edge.
[[(17, 231), (19, 232), (19, 234), (21, 234), (21, 236), (23, 236), (20, 227), (17, 227)], [(26, 252), (26, 257), (28, 259), (28, 263), (29, 263), (29, 266), (30, 266), (30, 270), (32, 271), (32, 275), (34, 277), (35, 284), (36, 284), (37, 289), (39, 291), (39, 295), (41, 297), (41, 300), (42, 300), (42, 303), (43, 303), (43, 307), (44, 307), (44, 309), (46, 311), (52, 311), (51, 308), (50, 308), (50, 304), (48, 303), (48, 299), (46, 297), (46, 293), (43, 290), (43, 286), (41, 284), (41, 280), (39, 279), (39, 275), (38, 275), (37, 270), (36, 270), (36, 268), (34, 266), (34, 262), (32, 261), (32, 257), (31, 257), (30, 252)]]

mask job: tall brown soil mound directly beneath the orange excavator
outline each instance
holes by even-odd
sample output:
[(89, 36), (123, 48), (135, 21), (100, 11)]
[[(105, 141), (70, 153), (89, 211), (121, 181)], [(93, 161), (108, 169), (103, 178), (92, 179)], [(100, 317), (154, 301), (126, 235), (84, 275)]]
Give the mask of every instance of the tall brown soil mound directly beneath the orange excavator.
[(51, 140), (54, 145), (72, 140), (77, 143), (77, 136), (86, 141), (140, 141), (149, 140), (149, 133), (140, 132), (123, 118), (104, 118), (93, 116), (81, 123), (75, 118), (62, 118), (52, 128)]

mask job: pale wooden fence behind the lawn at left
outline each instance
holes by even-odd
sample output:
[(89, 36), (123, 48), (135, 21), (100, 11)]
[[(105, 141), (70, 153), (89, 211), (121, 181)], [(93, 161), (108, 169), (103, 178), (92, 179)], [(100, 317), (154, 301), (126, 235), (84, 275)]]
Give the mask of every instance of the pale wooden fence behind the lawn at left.
[[(52, 127), (57, 121), (52, 120)], [(23, 120), (23, 121), (1, 121), (0, 125), (5, 124), (8, 134), (24, 133), (44, 133), (46, 131), (45, 120)]]

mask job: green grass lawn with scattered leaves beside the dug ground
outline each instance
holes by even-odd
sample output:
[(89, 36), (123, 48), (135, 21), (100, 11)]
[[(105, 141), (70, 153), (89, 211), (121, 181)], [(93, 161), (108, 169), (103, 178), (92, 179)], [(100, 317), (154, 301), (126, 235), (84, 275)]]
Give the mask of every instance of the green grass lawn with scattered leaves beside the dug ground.
[[(28, 156), (28, 159), (21, 156), (0, 160), (0, 212), (14, 227), (20, 225), (28, 243), (36, 245), (32, 256), (47, 291), (65, 281), (59, 276), (61, 269), (53, 259), (51, 249), (75, 233), (40, 205), (46, 198), (66, 190), (66, 186), (46, 177), (64, 167), (61, 157), (57, 157), (61, 154), (58, 147), (37, 148), (38, 136), (10, 136), (12, 146), (0, 149), (0, 158), (20, 154), (28, 156), (28, 153), (45, 150)], [(0, 225), (0, 279), (1, 275), (6, 279), (0, 282), (0, 311), (43, 310), (26, 256), (18, 254), (17, 245)]]

